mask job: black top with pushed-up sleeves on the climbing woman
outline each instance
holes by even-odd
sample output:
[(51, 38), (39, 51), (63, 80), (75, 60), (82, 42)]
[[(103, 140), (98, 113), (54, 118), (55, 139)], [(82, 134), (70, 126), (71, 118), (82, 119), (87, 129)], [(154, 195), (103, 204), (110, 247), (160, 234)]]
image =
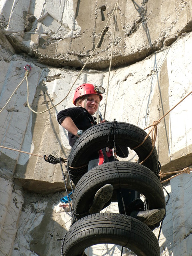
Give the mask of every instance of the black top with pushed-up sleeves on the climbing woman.
[[(59, 124), (61, 124), (63, 120), (68, 116), (73, 120), (74, 124), (79, 130), (87, 130), (91, 126), (97, 124), (95, 121), (96, 118), (94, 118), (85, 108), (82, 107), (67, 108), (65, 110), (61, 110), (57, 114), (57, 121)], [(68, 136), (69, 145), (72, 147), (75, 143), (75, 135), (68, 132)]]

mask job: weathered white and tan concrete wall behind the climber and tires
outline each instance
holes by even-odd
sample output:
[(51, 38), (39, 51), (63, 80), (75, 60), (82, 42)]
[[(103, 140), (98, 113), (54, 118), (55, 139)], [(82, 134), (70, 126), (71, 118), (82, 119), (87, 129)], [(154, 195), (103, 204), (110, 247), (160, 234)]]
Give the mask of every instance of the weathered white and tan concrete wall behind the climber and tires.
[[(67, 157), (67, 133), (56, 120), (73, 106), (75, 88), (102, 85), (107, 120), (146, 128), (192, 91), (192, 1), (4, 0), (0, 3), (0, 255), (60, 254), (70, 216), (58, 206), (65, 195), (59, 164), (41, 156)], [(101, 31), (107, 28), (93, 53)], [(113, 32), (115, 40), (109, 73)], [(79, 76), (79, 78), (77, 78)], [(156, 148), (163, 172), (192, 165), (192, 121), (188, 96), (158, 125)], [(130, 150), (127, 160), (137, 156)], [(66, 173), (65, 173), (66, 176)], [(67, 179), (67, 176), (66, 176)], [(192, 255), (191, 174), (166, 183), (170, 200), (160, 236), (162, 256)], [(67, 183), (68, 184), (68, 183)], [(165, 192), (166, 198), (168, 198)], [(110, 209), (107, 209), (110, 210)], [(158, 236), (159, 229), (154, 230)], [(98, 255), (99, 254), (98, 252)], [(118, 254), (117, 254), (118, 255)], [(127, 255), (127, 254), (126, 254)]]

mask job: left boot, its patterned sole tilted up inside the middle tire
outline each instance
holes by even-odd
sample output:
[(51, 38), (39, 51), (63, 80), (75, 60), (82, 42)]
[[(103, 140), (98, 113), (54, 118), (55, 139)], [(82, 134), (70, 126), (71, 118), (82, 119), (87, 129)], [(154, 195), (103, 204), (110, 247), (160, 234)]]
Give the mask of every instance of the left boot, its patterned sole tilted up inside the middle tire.
[(93, 214), (93, 213), (100, 212), (103, 209), (103, 206), (109, 200), (111, 200), (112, 195), (113, 195), (113, 186), (111, 184), (106, 184), (105, 186), (100, 188), (95, 194), (95, 197), (93, 199), (93, 204), (89, 209), (89, 213)]

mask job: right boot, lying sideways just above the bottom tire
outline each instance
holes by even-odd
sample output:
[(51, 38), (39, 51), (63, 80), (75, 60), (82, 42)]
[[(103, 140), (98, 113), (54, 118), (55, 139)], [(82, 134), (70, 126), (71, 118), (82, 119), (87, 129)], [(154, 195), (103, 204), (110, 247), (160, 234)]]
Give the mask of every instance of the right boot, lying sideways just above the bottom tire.
[(165, 215), (164, 208), (152, 209), (148, 211), (134, 211), (131, 212), (131, 217), (142, 221), (147, 226), (154, 225), (162, 220)]

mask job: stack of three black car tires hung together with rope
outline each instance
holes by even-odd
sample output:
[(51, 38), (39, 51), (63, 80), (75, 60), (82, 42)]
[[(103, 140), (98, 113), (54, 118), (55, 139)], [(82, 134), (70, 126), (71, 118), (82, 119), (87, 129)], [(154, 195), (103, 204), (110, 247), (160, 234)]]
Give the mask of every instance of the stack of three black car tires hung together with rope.
[[(66, 234), (63, 246), (65, 256), (81, 256), (85, 248), (103, 242), (123, 246), (138, 256), (160, 255), (153, 227), (124, 214), (87, 214), (95, 193), (105, 184), (112, 184), (114, 190), (127, 188), (140, 192), (146, 198), (148, 210), (165, 209), (164, 192), (157, 177), (158, 155), (156, 148), (152, 151), (151, 138), (146, 138), (146, 135), (144, 130), (132, 124), (106, 122), (89, 128), (75, 142), (68, 165), (72, 177), (75, 179), (78, 176), (74, 182), (76, 187), (73, 196), (74, 212), (78, 220)], [(87, 172), (85, 166), (93, 148), (98, 151), (114, 144), (135, 148), (139, 162), (151, 151), (152, 154), (142, 165), (130, 161), (114, 161)], [(74, 172), (76, 176), (73, 176)]]

